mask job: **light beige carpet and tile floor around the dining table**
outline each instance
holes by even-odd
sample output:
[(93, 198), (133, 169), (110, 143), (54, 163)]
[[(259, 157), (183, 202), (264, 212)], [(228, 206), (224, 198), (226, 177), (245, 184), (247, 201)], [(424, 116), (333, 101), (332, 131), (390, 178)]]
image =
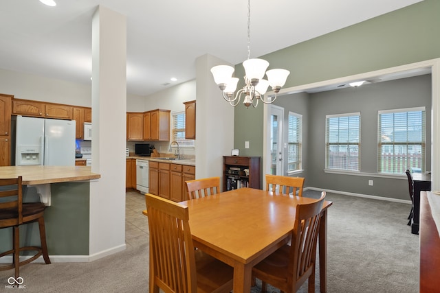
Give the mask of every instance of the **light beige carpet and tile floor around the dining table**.
[[(318, 198), (318, 191), (304, 196)], [(21, 268), (25, 290), (5, 288), (13, 270), (0, 272), (0, 292), (148, 292), (148, 223), (144, 198), (126, 196), (127, 249), (91, 263), (30, 263)], [(418, 292), (419, 236), (410, 233), (410, 205), (327, 193), (327, 291)], [(316, 292), (319, 292), (318, 270)], [(260, 283), (252, 293), (260, 292)], [(270, 287), (268, 292), (279, 292)], [(307, 283), (298, 292), (307, 292)]]

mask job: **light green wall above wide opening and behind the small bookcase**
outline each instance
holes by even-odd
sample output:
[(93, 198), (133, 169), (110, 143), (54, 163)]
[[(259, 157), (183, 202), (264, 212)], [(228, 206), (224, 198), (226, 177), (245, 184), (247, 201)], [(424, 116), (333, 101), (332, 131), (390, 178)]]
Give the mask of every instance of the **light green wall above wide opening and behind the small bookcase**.
[[(425, 0), (261, 58), (270, 62), (269, 69), (291, 72), (284, 86), (289, 88), (439, 58), (439, 27), (440, 1)], [(241, 64), (235, 66), (234, 75), (243, 77)], [(244, 148), (245, 141), (250, 141), (249, 149)], [(236, 106), (234, 148), (242, 156), (263, 160), (263, 105)]]

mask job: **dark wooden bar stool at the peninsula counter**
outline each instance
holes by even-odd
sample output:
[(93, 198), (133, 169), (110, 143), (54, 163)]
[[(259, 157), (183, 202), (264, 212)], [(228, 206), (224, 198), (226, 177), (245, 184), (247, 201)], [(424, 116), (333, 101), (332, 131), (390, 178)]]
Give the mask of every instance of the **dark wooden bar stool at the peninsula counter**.
[[(41, 202), (23, 203), (22, 178), (0, 179), (0, 228), (12, 228), (12, 249), (0, 254), (0, 257), (12, 255), (12, 263), (0, 266), (0, 270), (14, 268), (15, 280), (20, 277), (20, 266), (30, 263), (43, 255), (45, 263), (49, 264), (47, 254), (46, 232), (44, 224), (45, 205)], [(32, 222), (39, 223), (40, 242), (39, 246), (20, 247), (20, 226)], [(22, 242), (23, 243), (23, 242)], [(35, 251), (35, 255), (20, 261), (20, 252), (24, 250)]]

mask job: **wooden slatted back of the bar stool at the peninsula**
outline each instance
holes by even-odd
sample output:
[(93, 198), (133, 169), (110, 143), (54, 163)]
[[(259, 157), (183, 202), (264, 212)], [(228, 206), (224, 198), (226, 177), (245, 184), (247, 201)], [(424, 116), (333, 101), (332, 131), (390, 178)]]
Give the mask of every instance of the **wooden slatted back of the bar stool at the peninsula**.
[(0, 215), (0, 228), (15, 226), (23, 223), (23, 194), (21, 176), (18, 178), (0, 179), (0, 214), (13, 215), (3, 217)]

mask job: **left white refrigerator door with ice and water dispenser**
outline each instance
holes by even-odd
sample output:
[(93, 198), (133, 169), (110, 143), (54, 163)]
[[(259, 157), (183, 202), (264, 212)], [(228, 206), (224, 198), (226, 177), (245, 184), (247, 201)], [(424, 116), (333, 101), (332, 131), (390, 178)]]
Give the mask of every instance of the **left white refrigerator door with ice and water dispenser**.
[(15, 165), (43, 165), (44, 121), (17, 116)]

